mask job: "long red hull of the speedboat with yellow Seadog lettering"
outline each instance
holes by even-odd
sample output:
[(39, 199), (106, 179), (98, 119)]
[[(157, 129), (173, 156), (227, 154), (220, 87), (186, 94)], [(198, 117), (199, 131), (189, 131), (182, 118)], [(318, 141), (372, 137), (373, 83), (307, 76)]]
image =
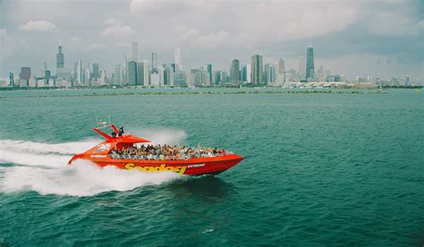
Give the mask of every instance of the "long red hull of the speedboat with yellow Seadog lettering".
[(116, 166), (124, 170), (141, 172), (175, 172), (181, 175), (217, 175), (237, 165), (242, 157), (229, 154), (210, 158), (190, 158), (187, 160), (145, 160), (145, 159), (115, 159), (108, 155), (80, 154), (74, 156), (73, 161), (82, 159), (104, 167)]

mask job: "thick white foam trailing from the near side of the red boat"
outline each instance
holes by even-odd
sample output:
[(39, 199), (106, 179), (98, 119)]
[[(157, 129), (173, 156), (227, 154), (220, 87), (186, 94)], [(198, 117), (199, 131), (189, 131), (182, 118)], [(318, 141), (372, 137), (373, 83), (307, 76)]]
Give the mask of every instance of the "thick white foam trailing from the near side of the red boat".
[(2, 170), (0, 192), (34, 191), (42, 195), (91, 196), (100, 192), (123, 192), (182, 177), (173, 172), (143, 173), (122, 170), (115, 166), (100, 168), (78, 161), (72, 166), (60, 168), (12, 166), (3, 167)]

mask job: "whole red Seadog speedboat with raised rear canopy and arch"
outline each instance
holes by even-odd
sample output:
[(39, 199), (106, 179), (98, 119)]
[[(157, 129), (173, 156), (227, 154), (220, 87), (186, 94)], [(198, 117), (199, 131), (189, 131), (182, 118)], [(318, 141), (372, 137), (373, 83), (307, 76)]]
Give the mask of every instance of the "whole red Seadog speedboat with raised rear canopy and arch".
[[(112, 135), (102, 132), (101, 129), (111, 128)], [(143, 172), (165, 172), (172, 171), (182, 175), (217, 175), (235, 166), (242, 161), (242, 157), (232, 152), (219, 150), (208, 155), (199, 154), (197, 156), (166, 157), (166, 156), (146, 156), (125, 153), (122, 150), (137, 149), (138, 145), (148, 144), (148, 140), (133, 135), (121, 134), (114, 124), (94, 128), (106, 138), (106, 141), (99, 143), (88, 151), (77, 154), (68, 162), (69, 165), (77, 159), (89, 160), (98, 166), (116, 166), (126, 170), (140, 170)], [(120, 133), (120, 134), (118, 134)]]

